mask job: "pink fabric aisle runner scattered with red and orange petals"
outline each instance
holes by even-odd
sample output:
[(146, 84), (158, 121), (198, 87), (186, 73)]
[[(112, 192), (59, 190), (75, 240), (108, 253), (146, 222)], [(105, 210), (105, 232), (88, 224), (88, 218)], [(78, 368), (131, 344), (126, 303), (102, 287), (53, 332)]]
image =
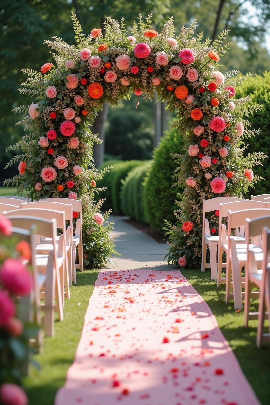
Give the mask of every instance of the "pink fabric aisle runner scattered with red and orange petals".
[(55, 405), (259, 404), (179, 271), (102, 271)]

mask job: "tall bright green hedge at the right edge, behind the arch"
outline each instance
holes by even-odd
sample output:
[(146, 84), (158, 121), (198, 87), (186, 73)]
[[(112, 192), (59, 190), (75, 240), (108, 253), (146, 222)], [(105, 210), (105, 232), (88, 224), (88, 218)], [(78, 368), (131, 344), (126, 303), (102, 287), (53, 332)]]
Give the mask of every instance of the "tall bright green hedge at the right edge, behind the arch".
[[(252, 111), (249, 116), (251, 126), (261, 131), (253, 138), (245, 139), (248, 145), (245, 154), (252, 153), (254, 150), (269, 155), (269, 138), (270, 138), (270, 72), (264, 72), (262, 76), (255, 75), (249, 77), (236, 89), (236, 97), (249, 96), (247, 106), (252, 104), (261, 104), (261, 109), (255, 112)], [(256, 190), (251, 190), (247, 193), (247, 197), (251, 194), (269, 194), (270, 192), (270, 160), (264, 161), (263, 166), (256, 168), (256, 174), (264, 177), (264, 181), (260, 181), (256, 185)]]

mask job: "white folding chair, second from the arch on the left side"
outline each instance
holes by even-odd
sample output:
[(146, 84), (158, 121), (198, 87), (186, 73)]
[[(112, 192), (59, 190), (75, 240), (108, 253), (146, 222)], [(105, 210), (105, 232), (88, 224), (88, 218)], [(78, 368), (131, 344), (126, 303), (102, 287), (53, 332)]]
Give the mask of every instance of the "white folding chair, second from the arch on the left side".
[[(65, 213), (65, 220), (68, 221), (69, 226), (66, 229), (66, 251), (67, 251), (67, 259), (68, 259), (68, 274), (69, 274), (69, 283), (70, 286), (72, 285), (72, 279), (74, 284), (76, 284), (76, 270), (75, 270), (75, 259), (73, 255), (73, 217), (72, 217), (72, 204), (63, 204), (63, 203), (55, 203), (54, 201), (35, 201), (33, 203), (23, 203), (20, 206), (21, 209), (51, 209), (55, 211), (64, 211)], [(59, 237), (57, 238), (59, 239)], [(51, 250), (51, 241), (48, 238), (41, 240), (41, 245), (38, 246), (37, 250), (41, 252), (48, 253)], [(46, 246), (45, 246), (46, 245)]]

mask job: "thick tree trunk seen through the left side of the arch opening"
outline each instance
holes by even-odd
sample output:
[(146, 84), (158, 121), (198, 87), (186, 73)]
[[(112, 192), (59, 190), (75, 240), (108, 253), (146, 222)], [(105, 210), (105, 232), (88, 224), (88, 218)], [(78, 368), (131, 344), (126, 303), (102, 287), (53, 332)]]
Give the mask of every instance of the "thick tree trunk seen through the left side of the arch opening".
[(93, 134), (98, 134), (98, 137), (102, 140), (102, 144), (94, 143), (93, 157), (95, 166), (98, 167), (104, 162), (104, 147), (105, 147), (105, 122), (108, 116), (109, 105), (104, 104), (103, 109), (98, 111), (95, 122), (91, 126)]

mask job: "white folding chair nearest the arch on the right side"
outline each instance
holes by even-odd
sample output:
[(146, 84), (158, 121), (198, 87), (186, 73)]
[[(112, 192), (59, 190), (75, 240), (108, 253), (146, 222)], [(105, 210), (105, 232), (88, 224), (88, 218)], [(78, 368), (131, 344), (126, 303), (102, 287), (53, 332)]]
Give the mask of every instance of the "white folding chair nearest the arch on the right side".
[[(202, 267), (205, 271), (210, 267), (211, 279), (217, 279), (217, 245), (219, 243), (218, 235), (210, 234), (209, 222), (205, 218), (205, 214), (219, 209), (220, 203), (231, 203), (232, 201), (243, 201), (243, 198), (238, 197), (216, 197), (209, 200), (202, 200)], [(210, 264), (206, 263), (206, 249), (209, 247)]]

